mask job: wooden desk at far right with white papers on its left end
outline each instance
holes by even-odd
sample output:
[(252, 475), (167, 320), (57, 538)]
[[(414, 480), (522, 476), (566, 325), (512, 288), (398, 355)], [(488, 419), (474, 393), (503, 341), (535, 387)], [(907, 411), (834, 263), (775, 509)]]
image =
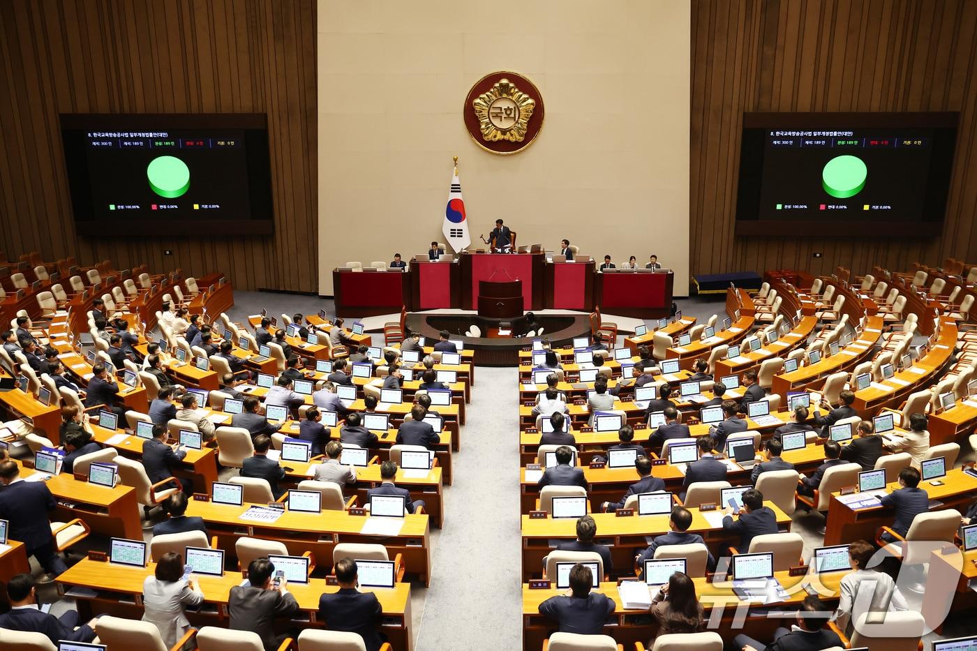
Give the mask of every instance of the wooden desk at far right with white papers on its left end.
[[(950, 470), (942, 478), (943, 486), (933, 486), (928, 481), (919, 482), (919, 488), (924, 490), (929, 499), (942, 502), (938, 507), (956, 508), (961, 513), (977, 495), (977, 479), (965, 474), (960, 468)], [(899, 484), (892, 482), (886, 486), (891, 493), (899, 488)], [(893, 509), (889, 507), (873, 506), (855, 510), (838, 500), (839, 493), (831, 494), (828, 504), (828, 524), (825, 533), (825, 544), (842, 544), (863, 539), (869, 542), (875, 540), (878, 528), (892, 526)]]

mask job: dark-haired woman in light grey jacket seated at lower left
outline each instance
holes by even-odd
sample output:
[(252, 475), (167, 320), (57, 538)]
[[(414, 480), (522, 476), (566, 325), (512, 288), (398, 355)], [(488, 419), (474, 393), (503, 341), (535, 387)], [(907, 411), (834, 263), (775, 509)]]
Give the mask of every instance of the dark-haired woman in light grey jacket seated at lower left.
[(156, 625), (167, 649), (190, 629), (185, 608), (203, 601), (200, 587), (183, 578), (183, 569), (183, 555), (168, 551), (156, 563), (155, 576), (143, 583), (143, 621)]

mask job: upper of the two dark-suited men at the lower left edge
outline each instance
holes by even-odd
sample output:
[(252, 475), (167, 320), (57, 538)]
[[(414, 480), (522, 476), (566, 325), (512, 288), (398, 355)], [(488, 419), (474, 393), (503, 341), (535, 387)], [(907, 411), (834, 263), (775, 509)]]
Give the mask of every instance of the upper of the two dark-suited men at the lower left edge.
[(0, 491), (0, 519), (9, 522), (8, 537), (23, 542), (48, 574), (64, 572), (47, 516), (58, 505), (51, 491), (44, 482), (23, 481), (21, 467), (10, 459), (0, 461), (0, 483), (6, 487)]

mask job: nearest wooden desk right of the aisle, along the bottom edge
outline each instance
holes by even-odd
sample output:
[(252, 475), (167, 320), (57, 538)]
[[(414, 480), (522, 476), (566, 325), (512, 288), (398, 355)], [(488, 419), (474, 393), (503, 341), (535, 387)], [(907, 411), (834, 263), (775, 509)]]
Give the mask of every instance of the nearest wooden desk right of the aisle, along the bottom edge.
[[(833, 602), (838, 598), (838, 586), (845, 574), (847, 573), (834, 572), (824, 575), (809, 574), (791, 577), (787, 572), (777, 572), (774, 576), (784, 587), (788, 596), (783, 601), (772, 604), (759, 604), (757, 602), (750, 604), (742, 601), (733, 592), (733, 585), (728, 581), (709, 583), (704, 577), (697, 577), (693, 579), (693, 582), (696, 584), (696, 593), (705, 609), (706, 620), (711, 619), (718, 624), (718, 629), (710, 626), (710, 630), (716, 630), (724, 639), (732, 639), (738, 633), (768, 639), (773, 636), (776, 627), (783, 626), (790, 621), (767, 618), (768, 610), (776, 608), (783, 608), (787, 611), (796, 610), (797, 605), (807, 596), (804, 585), (814, 586), (822, 600)], [(617, 591), (616, 582), (602, 582), (594, 591), (606, 594), (615, 602), (615, 612), (610, 618), (612, 624), (605, 628), (605, 634), (610, 634), (616, 642), (625, 644), (625, 648), (633, 648), (634, 643), (639, 641), (647, 644), (649, 639), (655, 637), (658, 632), (655, 619), (649, 615), (647, 610), (625, 610)], [(530, 589), (529, 584), (523, 584), (523, 649), (531, 651), (542, 648), (543, 640), (556, 630), (556, 622), (539, 614), (539, 604), (552, 596), (566, 594), (566, 592), (565, 589), (555, 587), (545, 590)], [(739, 626), (734, 628), (733, 620), (743, 613), (743, 608), (748, 609), (743, 628), (741, 629)]]

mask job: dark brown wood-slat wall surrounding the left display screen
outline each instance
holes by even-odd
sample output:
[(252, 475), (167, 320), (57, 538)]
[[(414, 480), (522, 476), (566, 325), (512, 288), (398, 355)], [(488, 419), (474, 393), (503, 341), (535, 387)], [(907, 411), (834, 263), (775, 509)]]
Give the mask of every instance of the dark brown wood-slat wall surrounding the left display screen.
[[(314, 0), (0, 3), (0, 250), (316, 291), (315, 29)], [(61, 112), (267, 113), (275, 235), (76, 236)]]

